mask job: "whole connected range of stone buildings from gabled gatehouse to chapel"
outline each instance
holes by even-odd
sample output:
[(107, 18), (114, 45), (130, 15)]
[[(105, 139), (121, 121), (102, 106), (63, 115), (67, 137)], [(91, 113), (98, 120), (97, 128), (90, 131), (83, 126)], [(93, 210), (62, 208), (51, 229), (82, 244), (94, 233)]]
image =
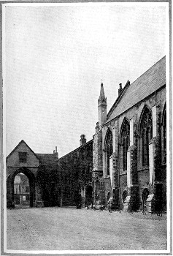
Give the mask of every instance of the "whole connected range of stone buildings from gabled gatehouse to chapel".
[(15, 176), (28, 177), (30, 206), (108, 206), (148, 211), (166, 206), (166, 57), (134, 83), (120, 83), (107, 113), (101, 83), (93, 139), (58, 159), (35, 154), (22, 140), (7, 157), (7, 206), (14, 205)]

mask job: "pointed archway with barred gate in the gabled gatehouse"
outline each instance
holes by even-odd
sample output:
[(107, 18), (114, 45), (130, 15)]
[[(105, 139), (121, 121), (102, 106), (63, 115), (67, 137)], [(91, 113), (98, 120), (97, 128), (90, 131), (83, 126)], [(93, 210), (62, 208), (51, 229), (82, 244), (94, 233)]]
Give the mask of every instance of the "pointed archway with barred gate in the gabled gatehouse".
[(23, 167), (7, 178), (7, 206), (34, 206), (35, 176)]

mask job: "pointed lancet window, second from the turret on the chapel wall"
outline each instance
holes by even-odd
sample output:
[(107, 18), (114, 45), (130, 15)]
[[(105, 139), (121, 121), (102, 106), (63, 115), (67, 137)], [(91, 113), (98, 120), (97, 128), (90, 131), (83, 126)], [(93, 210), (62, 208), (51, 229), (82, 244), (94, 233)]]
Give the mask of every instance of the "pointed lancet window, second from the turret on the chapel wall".
[(127, 170), (127, 151), (130, 146), (130, 124), (126, 120), (123, 121), (121, 128), (121, 146), (122, 146), (122, 157), (123, 157), (123, 170)]

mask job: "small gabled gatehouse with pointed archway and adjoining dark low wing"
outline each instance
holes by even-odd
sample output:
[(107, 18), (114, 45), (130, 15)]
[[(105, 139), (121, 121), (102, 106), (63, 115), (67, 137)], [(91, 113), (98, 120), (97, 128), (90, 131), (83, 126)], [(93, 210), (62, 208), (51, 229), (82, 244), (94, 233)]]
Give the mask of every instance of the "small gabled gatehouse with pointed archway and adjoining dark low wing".
[(58, 153), (35, 154), (21, 140), (7, 157), (7, 207), (57, 204), (58, 178)]

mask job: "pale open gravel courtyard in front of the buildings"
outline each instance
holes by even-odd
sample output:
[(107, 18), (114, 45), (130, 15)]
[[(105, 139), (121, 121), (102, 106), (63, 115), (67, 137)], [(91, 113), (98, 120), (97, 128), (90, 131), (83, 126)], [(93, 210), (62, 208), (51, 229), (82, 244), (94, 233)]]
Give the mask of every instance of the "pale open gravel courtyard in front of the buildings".
[(166, 215), (75, 208), (8, 209), (7, 249), (165, 250)]

